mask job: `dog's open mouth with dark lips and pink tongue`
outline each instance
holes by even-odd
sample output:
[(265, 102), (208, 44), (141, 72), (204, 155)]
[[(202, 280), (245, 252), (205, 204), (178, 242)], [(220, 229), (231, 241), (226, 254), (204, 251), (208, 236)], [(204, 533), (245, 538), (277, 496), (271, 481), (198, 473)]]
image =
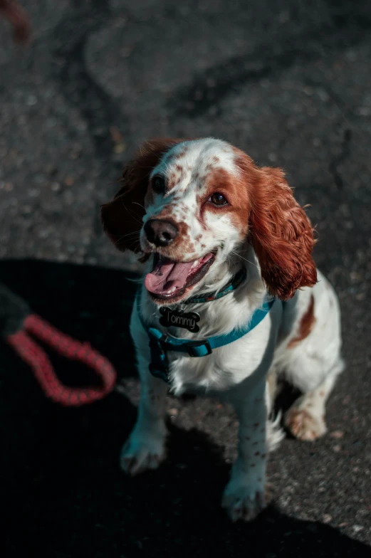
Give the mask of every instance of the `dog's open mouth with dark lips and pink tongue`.
[(145, 288), (155, 301), (177, 302), (187, 289), (199, 283), (214, 260), (212, 252), (190, 262), (176, 262), (155, 253), (153, 270), (145, 276)]

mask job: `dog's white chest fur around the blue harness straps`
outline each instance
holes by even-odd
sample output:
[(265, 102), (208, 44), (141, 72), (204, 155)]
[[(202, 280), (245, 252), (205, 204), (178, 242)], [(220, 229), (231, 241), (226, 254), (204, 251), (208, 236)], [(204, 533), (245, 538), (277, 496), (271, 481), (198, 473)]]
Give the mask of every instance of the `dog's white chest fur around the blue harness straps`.
[[(219, 300), (187, 307), (187, 311), (198, 312), (200, 315), (200, 330), (197, 333), (179, 327), (166, 328), (160, 325), (160, 312), (144, 289), (140, 296), (139, 308), (142, 320), (145, 320), (147, 325), (157, 327), (167, 335), (199, 340), (222, 335), (245, 326), (256, 308), (261, 306), (265, 295), (263, 290), (259, 290), (253, 298), (251, 295), (248, 296), (247, 292), (247, 289), (241, 289), (238, 293), (230, 293)], [(139, 308), (135, 305), (133, 310), (131, 331), (138, 355), (141, 355), (149, 365), (149, 339), (138, 315)], [(214, 349), (205, 357), (189, 357), (188, 354), (167, 352), (171, 391), (174, 394), (193, 391), (212, 396), (220, 391), (233, 389), (249, 378), (251, 382), (258, 381), (266, 373), (273, 359), (280, 321), (281, 303), (277, 302), (266, 317), (248, 334), (224, 347)]]

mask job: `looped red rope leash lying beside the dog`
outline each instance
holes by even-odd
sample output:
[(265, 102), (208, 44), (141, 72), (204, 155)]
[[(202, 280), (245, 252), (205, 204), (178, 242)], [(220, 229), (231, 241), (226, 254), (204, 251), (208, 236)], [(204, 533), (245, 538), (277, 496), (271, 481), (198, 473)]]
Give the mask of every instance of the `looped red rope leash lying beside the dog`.
[[(83, 362), (93, 369), (100, 380), (101, 387), (71, 388), (65, 386), (56, 376), (48, 355), (28, 336), (27, 332), (38, 337), (56, 352), (71, 360)], [(89, 343), (80, 343), (63, 334), (36, 314), (28, 315), (23, 321), (23, 329), (6, 337), (19, 357), (33, 369), (38, 383), (46, 396), (65, 406), (80, 406), (102, 399), (113, 390), (116, 372), (112, 364)]]

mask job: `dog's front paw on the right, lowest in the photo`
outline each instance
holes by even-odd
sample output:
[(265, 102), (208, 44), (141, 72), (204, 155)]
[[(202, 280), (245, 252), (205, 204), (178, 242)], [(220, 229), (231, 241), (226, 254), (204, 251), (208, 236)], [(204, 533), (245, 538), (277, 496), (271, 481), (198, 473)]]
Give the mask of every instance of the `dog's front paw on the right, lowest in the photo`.
[(231, 479), (224, 490), (221, 507), (233, 522), (251, 521), (266, 507), (270, 498), (269, 485), (242, 484)]

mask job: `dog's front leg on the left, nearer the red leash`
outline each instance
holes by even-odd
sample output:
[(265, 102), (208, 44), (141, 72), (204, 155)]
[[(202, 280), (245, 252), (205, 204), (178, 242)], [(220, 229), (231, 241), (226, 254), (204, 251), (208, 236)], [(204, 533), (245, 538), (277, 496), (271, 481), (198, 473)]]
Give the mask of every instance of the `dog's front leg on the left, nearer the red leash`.
[(167, 384), (150, 374), (148, 359), (138, 356), (140, 403), (137, 422), (124, 444), (120, 457), (122, 470), (137, 475), (156, 469), (165, 457)]

